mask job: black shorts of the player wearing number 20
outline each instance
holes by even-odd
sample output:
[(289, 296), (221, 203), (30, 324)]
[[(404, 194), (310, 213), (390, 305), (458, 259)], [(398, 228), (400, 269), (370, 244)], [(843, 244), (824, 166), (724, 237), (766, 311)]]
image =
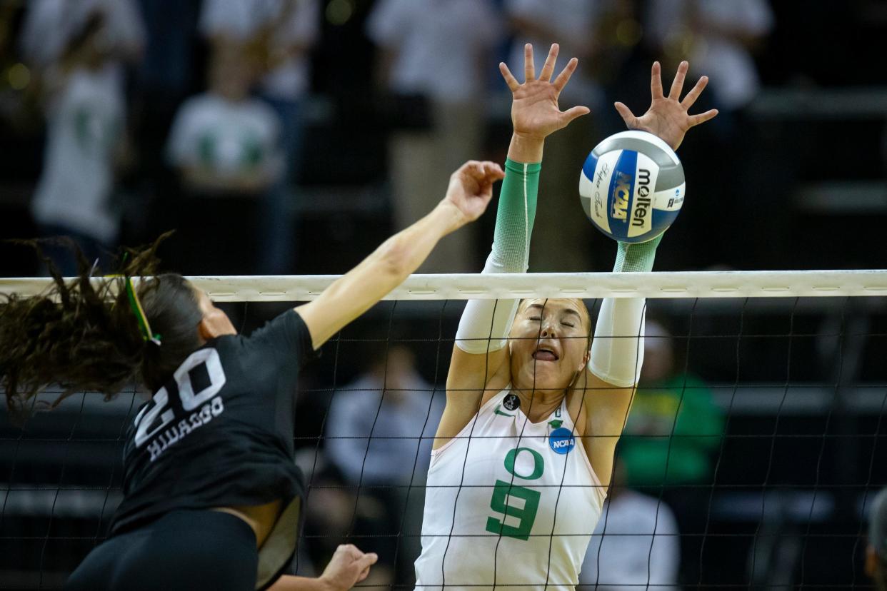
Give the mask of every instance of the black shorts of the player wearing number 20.
[(171, 511), (94, 548), (65, 589), (252, 591), (258, 560), (255, 533), (243, 519), (221, 511)]

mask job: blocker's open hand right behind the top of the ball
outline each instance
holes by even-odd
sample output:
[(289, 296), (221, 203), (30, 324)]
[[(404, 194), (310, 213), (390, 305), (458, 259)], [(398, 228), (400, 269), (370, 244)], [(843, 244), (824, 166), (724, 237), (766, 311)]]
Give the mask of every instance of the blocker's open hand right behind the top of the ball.
[(671, 82), (671, 90), (668, 97), (663, 95), (663, 81), (661, 76), (662, 66), (659, 62), (653, 62), (653, 68), (650, 72), (650, 94), (652, 101), (647, 113), (640, 117), (635, 117), (631, 109), (623, 103), (616, 103), (616, 111), (622, 115), (625, 125), (629, 129), (640, 129), (648, 131), (655, 136), (659, 136), (666, 144), (671, 146), (672, 150), (677, 150), (678, 146), (684, 141), (684, 134), (687, 129), (709, 121), (718, 114), (718, 109), (710, 109), (705, 113), (691, 115), (687, 110), (693, 106), (699, 95), (702, 94), (705, 85), (709, 83), (709, 77), (703, 76), (696, 82), (696, 85), (687, 92), (684, 100), (680, 100), (680, 92), (684, 88), (684, 78), (687, 77), (687, 70), (690, 68), (686, 61), (680, 62), (678, 73), (674, 75), (674, 82)]

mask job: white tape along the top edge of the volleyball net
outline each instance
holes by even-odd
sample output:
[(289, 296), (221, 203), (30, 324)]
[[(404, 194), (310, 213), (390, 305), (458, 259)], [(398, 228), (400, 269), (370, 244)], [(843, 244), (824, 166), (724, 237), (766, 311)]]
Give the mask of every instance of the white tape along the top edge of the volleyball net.
[[(339, 276), (188, 277), (216, 301), (309, 301)], [(101, 281), (101, 279), (96, 279)], [(48, 278), (0, 279), (0, 293), (42, 292)], [(412, 275), (384, 299), (798, 298), (887, 295), (887, 270)]]

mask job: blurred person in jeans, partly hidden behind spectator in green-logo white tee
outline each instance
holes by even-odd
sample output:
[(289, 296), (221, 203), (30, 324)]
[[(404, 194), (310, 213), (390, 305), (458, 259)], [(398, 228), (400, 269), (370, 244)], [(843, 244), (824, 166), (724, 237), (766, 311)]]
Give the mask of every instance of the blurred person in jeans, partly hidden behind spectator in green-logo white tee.
[(258, 272), (293, 272), (294, 172), (301, 162), (308, 53), (319, 35), (318, 0), (205, 0), (200, 31), (213, 43), (243, 43), (263, 74), (262, 97), (278, 113), (284, 172), (263, 199)]

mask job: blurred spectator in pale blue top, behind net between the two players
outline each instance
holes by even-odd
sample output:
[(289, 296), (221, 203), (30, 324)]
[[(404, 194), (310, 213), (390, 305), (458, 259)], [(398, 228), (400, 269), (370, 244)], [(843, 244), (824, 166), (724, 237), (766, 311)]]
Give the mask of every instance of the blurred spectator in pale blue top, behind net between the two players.
[(384, 533), (400, 536), (378, 540), (382, 546), (374, 549), (381, 563), (398, 567), (401, 583), (412, 578), (421, 549), (422, 485), (443, 413), (443, 392), (433, 396), (414, 362), (405, 346), (381, 346), (365, 373), (334, 393), (326, 421), (330, 461), (347, 483), (367, 487), (361, 498), (381, 502)]

